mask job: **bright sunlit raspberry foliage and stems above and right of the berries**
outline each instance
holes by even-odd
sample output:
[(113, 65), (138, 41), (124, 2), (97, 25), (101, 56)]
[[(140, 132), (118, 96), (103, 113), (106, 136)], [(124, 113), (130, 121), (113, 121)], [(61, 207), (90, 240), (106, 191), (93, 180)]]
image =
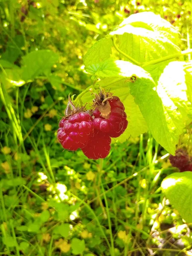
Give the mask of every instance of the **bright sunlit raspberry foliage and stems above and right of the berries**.
[[(166, 151), (175, 155), (180, 134), (192, 121), (192, 61), (183, 61), (192, 49), (181, 51), (178, 41), (177, 30), (160, 16), (152, 12), (131, 15), (88, 50), (85, 69), (95, 81), (76, 101), (91, 102), (90, 91), (99, 87), (110, 90), (119, 96), (129, 116), (128, 128), (119, 141), (149, 130)], [(187, 172), (183, 175), (190, 179)], [(177, 187), (172, 186), (173, 194), (174, 189)], [(166, 195), (172, 198), (169, 192)], [(185, 199), (183, 207), (192, 210)], [(171, 202), (178, 209), (177, 198)]]

